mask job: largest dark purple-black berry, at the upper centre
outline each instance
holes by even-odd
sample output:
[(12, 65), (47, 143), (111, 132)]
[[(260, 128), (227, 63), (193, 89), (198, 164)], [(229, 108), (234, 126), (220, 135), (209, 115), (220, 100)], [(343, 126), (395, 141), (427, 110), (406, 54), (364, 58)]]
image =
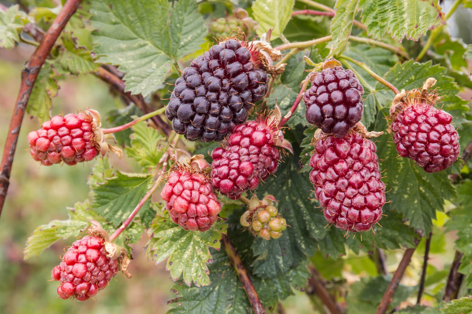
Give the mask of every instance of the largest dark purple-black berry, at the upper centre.
[(178, 134), (191, 141), (221, 141), (244, 123), (248, 110), (267, 92), (259, 53), (247, 42), (230, 39), (211, 47), (177, 79), (166, 116)]

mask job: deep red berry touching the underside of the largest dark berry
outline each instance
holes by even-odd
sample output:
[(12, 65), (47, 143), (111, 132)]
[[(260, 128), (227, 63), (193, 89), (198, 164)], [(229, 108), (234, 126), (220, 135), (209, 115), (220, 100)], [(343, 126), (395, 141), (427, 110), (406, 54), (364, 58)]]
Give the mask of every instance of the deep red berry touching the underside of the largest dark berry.
[(228, 145), (211, 152), (211, 184), (234, 200), (255, 189), (259, 180), (277, 171), (282, 141), (277, 123), (261, 119), (237, 125)]

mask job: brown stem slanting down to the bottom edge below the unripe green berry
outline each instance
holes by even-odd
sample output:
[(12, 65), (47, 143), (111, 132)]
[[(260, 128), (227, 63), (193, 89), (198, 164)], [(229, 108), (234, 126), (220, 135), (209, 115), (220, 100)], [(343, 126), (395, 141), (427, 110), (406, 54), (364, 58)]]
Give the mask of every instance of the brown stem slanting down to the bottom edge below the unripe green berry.
[(244, 291), (246, 291), (247, 298), (253, 307), (254, 313), (265, 314), (266, 312), (262, 306), (259, 296), (257, 295), (253, 282), (251, 281), (251, 278), (249, 278), (243, 261), (239, 257), (239, 254), (237, 253), (236, 248), (229, 239), (228, 235), (223, 234), (221, 237), (221, 242), (223, 243), (225, 251), (228, 254), (229, 260), (231, 261), (231, 264), (233, 265), (239, 280), (243, 284)]

